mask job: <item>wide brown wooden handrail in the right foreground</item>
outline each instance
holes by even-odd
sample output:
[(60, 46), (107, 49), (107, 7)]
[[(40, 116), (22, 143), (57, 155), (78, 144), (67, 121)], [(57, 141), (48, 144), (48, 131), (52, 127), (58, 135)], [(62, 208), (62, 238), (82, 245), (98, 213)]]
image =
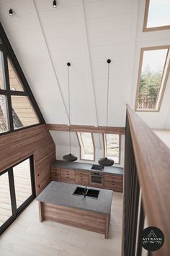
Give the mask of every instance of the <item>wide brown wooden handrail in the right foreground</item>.
[(164, 246), (153, 255), (170, 254), (170, 150), (127, 106), (135, 163), (148, 226), (164, 232)]

